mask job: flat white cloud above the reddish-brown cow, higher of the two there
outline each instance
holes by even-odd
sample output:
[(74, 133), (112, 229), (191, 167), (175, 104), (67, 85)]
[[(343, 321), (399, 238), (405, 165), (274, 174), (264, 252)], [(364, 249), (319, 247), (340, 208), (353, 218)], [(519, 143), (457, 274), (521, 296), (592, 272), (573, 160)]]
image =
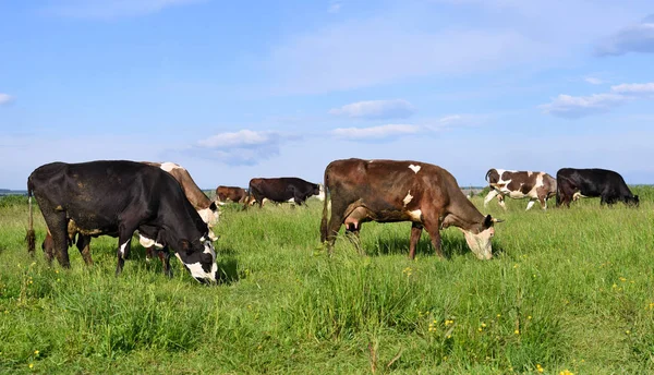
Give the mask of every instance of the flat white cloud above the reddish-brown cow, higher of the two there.
[(341, 108), (334, 108), (331, 114), (363, 119), (404, 119), (413, 114), (415, 108), (407, 100), (358, 101)]

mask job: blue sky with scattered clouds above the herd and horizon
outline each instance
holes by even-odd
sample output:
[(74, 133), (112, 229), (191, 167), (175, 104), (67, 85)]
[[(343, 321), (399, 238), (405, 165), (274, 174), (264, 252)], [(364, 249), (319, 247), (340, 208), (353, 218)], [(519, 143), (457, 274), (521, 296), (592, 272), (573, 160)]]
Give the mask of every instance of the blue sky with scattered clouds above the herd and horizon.
[(647, 1), (0, 1), (0, 188), (174, 161), (203, 189), (412, 159), (654, 183)]

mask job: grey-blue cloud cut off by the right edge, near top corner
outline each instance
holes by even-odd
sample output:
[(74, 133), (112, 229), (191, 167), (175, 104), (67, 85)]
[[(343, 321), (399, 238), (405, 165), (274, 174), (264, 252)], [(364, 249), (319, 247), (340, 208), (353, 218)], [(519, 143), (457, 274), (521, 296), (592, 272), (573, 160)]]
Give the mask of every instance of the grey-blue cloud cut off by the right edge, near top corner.
[(654, 14), (605, 38), (595, 48), (597, 56), (619, 56), (628, 52), (654, 53)]

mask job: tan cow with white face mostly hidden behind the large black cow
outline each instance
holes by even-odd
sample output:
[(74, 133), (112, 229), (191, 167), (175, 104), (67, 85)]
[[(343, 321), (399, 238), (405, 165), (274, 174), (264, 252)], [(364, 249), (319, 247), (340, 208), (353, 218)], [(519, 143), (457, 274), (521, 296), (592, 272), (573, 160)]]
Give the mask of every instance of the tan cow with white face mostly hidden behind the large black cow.
[[(205, 193), (197, 186), (197, 184), (195, 184), (195, 181), (193, 181), (193, 178), (191, 177), (191, 174), (189, 174), (189, 171), (185, 168), (183, 168), (174, 162), (141, 161), (141, 164), (160, 168), (160, 169), (165, 170), (166, 172), (168, 172), (169, 174), (171, 174), (177, 180), (177, 182), (181, 185), (182, 191), (184, 192), (184, 195), (186, 196), (186, 199), (191, 203), (191, 205), (193, 205), (193, 207), (195, 208), (197, 214), (199, 214), (199, 217), (202, 218), (202, 220), (207, 223), (207, 227), (209, 229), (208, 238), (211, 241), (216, 241), (218, 238), (216, 237), (216, 234), (214, 234), (214, 231), (211, 230), (211, 228), (216, 225), (216, 222), (218, 222), (218, 218), (220, 215), (220, 213), (218, 210), (218, 206), (216, 205), (215, 202), (210, 201), (205, 195)], [(82, 254), (82, 258), (84, 259), (84, 262), (87, 265), (93, 264), (93, 259), (90, 257), (90, 250), (89, 250), (90, 237), (82, 234), (82, 233), (76, 235), (78, 233), (77, 228), (75, 228), (74, 226), (71, 227), (70, 225), (68, 227), (66, 232), (68, 232), (69, 246), (71, 246), (73, 243), (75, 243), (77, 249), (80, 250), (80, 253)], [(144, 247), (146, 247), (148, 258), (150, 258), (153, 256), (153, 247), (154, 246), (161, 247), (154, 240), (147, 239), (143, 235), (140, 235), (138, 242)], [(48, 253), (52, 252), (53, 246), (55, 246), (55, 242), (52, 240), (50, 232), (48, 231), (48, 233), (46, 234), (46, 239), (44, 240), (44, 243), (41, 244), (41, 249), (44, 250), (44, 252), (46, 252), (48, 254)], [(164, 261), (165, 254), (158, 253), (158, 255), (161, 258), (161, 261)]]

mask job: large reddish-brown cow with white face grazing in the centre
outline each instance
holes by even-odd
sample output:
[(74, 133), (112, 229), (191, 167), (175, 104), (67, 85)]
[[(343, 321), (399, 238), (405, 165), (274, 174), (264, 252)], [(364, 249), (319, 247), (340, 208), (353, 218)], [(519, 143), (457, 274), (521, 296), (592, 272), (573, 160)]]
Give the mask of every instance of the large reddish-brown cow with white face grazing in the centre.
[[(445, 169), (419, 161), (347, 159), (331, 161), (325, 169), (325, 199), (320, 240), (334, 246), (341, 225), (359, 235), (362, 222), (411, 221), (409, 256), (423, 227), (432, 237), (438, 256), (441, 228), (458, 227), (472, 252), (481, 259), (493, 257), (495, 234), (491, 215), (482, 215), (461, 192), (457, 180)], [(330, 203), (330, 204), (329, 204)], [(327, 221), (329, 206), (331, 216)]]

